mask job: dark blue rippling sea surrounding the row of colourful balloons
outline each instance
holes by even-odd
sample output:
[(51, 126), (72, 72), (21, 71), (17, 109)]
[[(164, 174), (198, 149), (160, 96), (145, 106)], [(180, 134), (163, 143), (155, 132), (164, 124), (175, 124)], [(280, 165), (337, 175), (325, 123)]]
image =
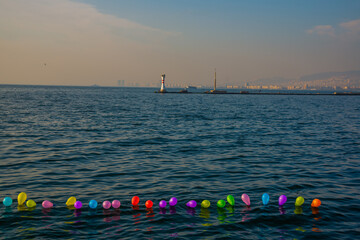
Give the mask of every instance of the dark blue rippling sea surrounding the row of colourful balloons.
[(360, 96), (156, 90), (1, 85), (0, 238), (359, 238)]

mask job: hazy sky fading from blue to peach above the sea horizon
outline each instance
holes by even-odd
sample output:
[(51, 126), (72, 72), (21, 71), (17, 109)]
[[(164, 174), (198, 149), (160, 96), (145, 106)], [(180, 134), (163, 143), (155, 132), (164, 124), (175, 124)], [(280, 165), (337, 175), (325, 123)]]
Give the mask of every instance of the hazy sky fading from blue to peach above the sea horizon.
[(0, 0), (0, 84), (243, 84), (360, 70), (358, 0)]

